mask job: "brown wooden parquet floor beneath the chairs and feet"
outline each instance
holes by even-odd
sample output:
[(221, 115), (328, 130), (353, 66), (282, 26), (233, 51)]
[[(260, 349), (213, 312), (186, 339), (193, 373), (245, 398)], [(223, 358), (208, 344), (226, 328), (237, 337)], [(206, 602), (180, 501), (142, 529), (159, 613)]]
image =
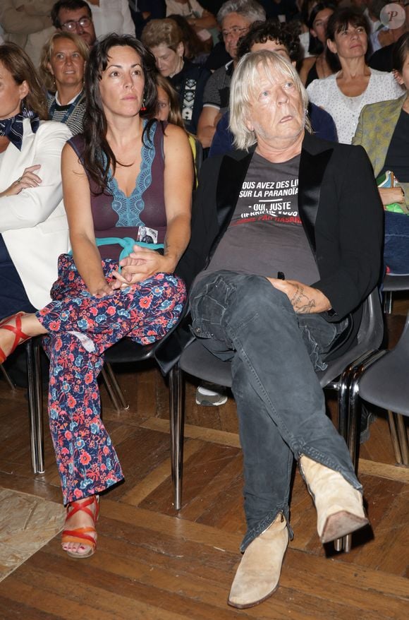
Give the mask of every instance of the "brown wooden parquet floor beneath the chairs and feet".
[[(389, 321), (391, 344), (403, 316)], [(404, 620), (409, 617), (409, 469), (394, 465), (386, 418), (372, 424), (360, 451), (360, 479), (372, 529), (353, 538), (349, 554), (323, 549), (316, 513), (295, 475), (295, 537), (280, 587), (266, 602), (239, 611), (226, 598), (245, 531), (242, 460), (234, 401), (197, 407), (186, 390), (183, 508), (173, 510), (169, 407), (159, 372), (145, 366), (118, 374), (130, 403), (117, 414), (102, 388), (104, 422), (126, 482), (101, 501), (99, 547), (75, 561), (59, 537), (0, 583), (0, 619), (51, 620)], [(329, 403), (330, 410), (331, 407)], [(44, 475), (30, 468), (25, 390), (0, 383), (0, 487), (61, 501), (47, 433)]]

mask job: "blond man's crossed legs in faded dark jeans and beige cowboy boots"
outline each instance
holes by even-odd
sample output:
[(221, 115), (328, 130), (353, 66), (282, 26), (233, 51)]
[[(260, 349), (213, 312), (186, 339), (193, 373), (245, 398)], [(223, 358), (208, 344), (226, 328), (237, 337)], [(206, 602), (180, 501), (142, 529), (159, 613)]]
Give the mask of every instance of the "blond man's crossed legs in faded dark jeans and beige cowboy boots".
[(193, 333), (232, 364), (248, 529), (228, 602), (251, 607), (276, 589), (292, 536), (293, 458), (315, 499), (322, 542), (367, 523), (362, 487), (345, 441), (326, 417), (315, 374), (346, 321), (295, 314), (288, 297), (266, 278), (224, 270), (193, 286), (190, 307)]

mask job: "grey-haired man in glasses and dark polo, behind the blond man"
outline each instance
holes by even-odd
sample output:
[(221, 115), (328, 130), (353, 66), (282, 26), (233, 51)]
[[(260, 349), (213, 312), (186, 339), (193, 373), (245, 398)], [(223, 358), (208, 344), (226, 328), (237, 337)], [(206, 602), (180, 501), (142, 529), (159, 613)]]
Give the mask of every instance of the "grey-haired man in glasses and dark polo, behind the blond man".
[(221, 28), (226, 52), (231, 60), (214, 71), (204, 88), (203, 110), (197, 126), (197, 138), (203, 148), (211, 145), (216, 125), (228, 107), (231, 76), (237, 64), (237, 44), (250, 25), (264, 21), (264, 8), (255, 0), (227, 0), (217, 13), (217, 23)]

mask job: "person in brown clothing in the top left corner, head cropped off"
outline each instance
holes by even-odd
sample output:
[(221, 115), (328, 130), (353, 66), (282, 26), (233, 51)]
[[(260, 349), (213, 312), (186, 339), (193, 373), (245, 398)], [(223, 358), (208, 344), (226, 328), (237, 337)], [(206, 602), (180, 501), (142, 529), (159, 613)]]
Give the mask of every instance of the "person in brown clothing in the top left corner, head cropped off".
[(54, 0), (1, 0), (4, 39), (22, 47), (37, 68), (42, 46), (54, 31), (50, 11)]

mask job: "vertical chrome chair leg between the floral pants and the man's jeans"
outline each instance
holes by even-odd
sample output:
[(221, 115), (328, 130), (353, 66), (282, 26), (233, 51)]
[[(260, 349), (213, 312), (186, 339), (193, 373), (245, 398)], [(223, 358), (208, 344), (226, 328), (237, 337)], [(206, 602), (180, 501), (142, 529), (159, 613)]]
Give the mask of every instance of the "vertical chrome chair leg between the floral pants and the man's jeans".
[(171, 412), (171, 473), (173, 503), (175, 510), (181, 510), (183, 470), (183, 423), (185, 415), (184, 381), (179, 364), (169, 373), (169, 409)]

